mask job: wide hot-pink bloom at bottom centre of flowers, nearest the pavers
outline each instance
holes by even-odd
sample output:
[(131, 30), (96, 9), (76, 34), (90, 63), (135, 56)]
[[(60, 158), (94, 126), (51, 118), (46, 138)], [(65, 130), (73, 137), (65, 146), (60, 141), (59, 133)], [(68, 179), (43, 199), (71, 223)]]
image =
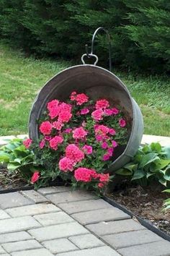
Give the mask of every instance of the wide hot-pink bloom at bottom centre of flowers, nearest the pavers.
[(91, 179), (97, 179), (97, 172), (89, 168), (79, 167), (74, 171), (74, 178), (78, 182), (91, 182)]

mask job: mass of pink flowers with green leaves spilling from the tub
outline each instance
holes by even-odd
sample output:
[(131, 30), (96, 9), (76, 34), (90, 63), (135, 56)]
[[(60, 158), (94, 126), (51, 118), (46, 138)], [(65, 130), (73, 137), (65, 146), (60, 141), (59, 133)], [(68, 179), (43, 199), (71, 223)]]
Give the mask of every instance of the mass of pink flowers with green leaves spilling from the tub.
[(120, 106), (105, 98), (92, 101), (74, 91), (66, 102), (48, 102), (41, 119), (40, 141), (27, 139), (23, 143), (25, 148), (34, 147), (37, 159), (48, 171), (35, 172), (31, 182), (51, 177), (52, 172), (73, 184), (94, 189), (106, 186), (110, 176), (104, 170), (115, 160), (117, 148), (127, 143), (127, 121)]

